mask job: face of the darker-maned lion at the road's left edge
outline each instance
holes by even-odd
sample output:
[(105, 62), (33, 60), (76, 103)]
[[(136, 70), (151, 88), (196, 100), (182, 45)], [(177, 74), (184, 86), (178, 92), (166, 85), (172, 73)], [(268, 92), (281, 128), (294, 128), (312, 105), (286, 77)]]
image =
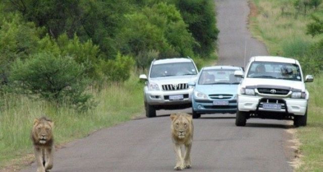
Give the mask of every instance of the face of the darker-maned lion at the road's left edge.
[(32, 129), (33, 138), (40, 144), (45, 144), (52, 138), (53, 122), (46, 118), (34, 120)]

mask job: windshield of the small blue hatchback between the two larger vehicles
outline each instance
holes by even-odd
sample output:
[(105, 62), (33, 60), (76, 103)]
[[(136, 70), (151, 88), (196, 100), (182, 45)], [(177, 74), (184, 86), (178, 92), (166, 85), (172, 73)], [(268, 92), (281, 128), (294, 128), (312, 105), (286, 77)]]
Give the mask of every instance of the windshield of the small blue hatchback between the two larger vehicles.
[(198, 84), (239, 84), (241, 78), (235, 77), (234, 71), (228, 69), (203, 70), (198, 79)]

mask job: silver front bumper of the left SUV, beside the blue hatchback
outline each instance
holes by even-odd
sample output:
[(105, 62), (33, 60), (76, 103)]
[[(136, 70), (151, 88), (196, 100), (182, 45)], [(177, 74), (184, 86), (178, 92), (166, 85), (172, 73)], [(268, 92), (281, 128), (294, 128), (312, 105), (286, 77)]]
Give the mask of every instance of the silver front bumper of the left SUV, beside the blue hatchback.
[[(187, 104), (192, 102), (193, 88), (172, 91), (148, 91), (145, 92), (145, 101), (149, 105), (176, 105)], [(170, 95), (183, 95), (183, 99), (170, 99)]]

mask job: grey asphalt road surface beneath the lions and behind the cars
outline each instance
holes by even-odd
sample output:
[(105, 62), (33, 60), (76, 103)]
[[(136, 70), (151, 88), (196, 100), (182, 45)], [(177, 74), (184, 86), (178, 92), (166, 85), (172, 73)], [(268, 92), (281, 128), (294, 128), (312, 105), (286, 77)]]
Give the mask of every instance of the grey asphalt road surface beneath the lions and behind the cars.
[[(247, 1), (216, 3), (218, 64), (244, 66), (250, 56), (267, 54), (248, 32)], [(68, 143), (55, 152), (51, 171), (173, 171), (170, 112), (159, 110), (156, 118), (133, 120)], [(285, 131), (291, 126), (285, 121), (248, 120), (245, 127), (236, 127), (235, 114), (208, 114), (193, 123), (192, 168), (185, 171), (292, 171)], [(36, 164), (22, 171), (36, 171)]]

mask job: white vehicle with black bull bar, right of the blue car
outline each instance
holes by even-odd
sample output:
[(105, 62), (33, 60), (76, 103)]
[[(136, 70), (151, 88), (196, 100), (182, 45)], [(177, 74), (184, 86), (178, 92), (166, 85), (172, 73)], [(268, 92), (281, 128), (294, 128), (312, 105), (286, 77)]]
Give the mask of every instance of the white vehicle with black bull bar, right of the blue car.
[(245, 126), (249, 118), (293, 120), (306, 126), (308, 91), (300, 64), (295, 59), (277, 56), (254, 56), (246, 72), (236, 71), (243, 80), (238, 86), (236, 125)]

